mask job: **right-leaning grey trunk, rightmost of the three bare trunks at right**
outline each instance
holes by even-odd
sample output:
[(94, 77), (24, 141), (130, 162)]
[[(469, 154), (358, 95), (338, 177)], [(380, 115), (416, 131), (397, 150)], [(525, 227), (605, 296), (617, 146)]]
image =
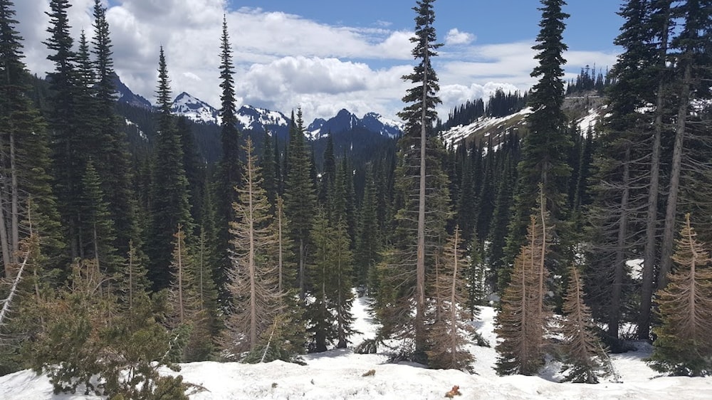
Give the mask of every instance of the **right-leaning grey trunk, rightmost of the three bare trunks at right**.
[(677, 198), (680, 189), (680, 172), (682, 168), (682, 152), (686, 128), (687, 108), (690, 105), (691, 65), (686, 63), (685, 73), (680, 91), (680, 104), (677, 110), (677, 129), (675, 131), (675, 147), (672, 153), (672, 172), (670, 174), (670, 190), (668, 192), (667, 209), (665, 210), (665, 226), (663, 228), (663, 243), (660, 260), (658, 288), (663, 289), (668, 283), (668, 273), (672, 267), (672, 252), (675, 236), (675, 214), (677, 213)]

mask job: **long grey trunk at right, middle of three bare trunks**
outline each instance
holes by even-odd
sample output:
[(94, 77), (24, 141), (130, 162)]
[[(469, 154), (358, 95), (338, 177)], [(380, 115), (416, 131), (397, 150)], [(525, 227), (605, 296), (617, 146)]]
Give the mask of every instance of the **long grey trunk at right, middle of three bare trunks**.
[(650, 159), (650, 185), (648, 191), (648, 211), (645, 226), (645, 247), (643, 251), (643, 273), (640, 298), (640, 313), (638, 317), (638, 339), (650, 340), (650, 314), (653, 297), (653, 278), (655, 275), (655, 238), (658, 222), (658, 186), (660, 184), (660, 141), (663, 130), (663, 75), (666, 68), (668, 41), (668, 19), (665, 19), (660, 44), (661, 72), (658, 75), (658, 93), (655, 102), (655, 121), (653, 148)]

